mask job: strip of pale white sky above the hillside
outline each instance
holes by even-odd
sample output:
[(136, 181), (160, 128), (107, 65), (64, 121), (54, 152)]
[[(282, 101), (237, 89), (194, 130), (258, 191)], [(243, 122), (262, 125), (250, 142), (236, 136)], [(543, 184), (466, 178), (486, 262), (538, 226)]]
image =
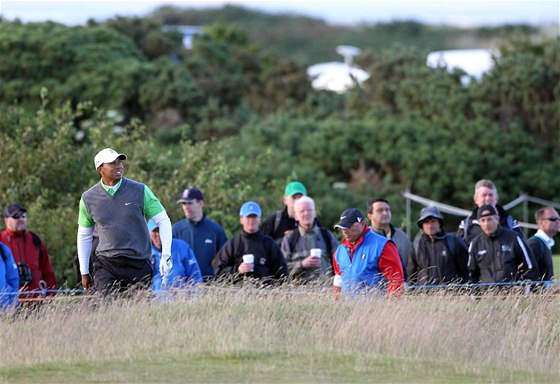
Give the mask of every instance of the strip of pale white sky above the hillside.
[(52, 20), (76, 25), (89, 18), (102, 21), (117, 14), (144, 16), (164, 4), (207, 8), (226, 3), (271, 13), (304, 14), (333, 24), (415, 19), (459, 26), (560, 25), (560, 0), (0, 0), (0, 14), (7, 20)]

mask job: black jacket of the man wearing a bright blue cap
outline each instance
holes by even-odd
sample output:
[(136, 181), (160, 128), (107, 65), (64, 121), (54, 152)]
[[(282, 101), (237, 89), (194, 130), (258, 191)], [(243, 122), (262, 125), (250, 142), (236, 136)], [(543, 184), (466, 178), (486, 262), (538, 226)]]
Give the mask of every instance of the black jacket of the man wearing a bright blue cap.
[(284, 255), (271, 237), (242, 230), (218, 251), (216, 276), (238, 275), (239, 265), (246, 254), (255, 256), (254, 272), (247, 274), (249, 277), (280, 279), (289, 275)]

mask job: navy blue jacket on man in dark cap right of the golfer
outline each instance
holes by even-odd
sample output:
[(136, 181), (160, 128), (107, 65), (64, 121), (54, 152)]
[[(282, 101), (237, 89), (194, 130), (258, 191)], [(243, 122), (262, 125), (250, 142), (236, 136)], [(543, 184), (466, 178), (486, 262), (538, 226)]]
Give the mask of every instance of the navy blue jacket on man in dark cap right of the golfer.
[(198, 223), (188, 219), (179, 220), (173, 224), (173, 237), (191, 246), (205, 280), (214, 276), (212, 260), (227, 241), (226, 233), (220, 225), (206, 215)]

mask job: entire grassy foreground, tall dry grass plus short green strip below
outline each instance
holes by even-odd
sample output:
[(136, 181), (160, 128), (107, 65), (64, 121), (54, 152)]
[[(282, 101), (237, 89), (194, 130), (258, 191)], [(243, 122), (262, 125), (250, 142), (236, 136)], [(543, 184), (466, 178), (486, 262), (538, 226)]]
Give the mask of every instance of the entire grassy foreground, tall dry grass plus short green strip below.
[(558, 296), (207, 289), (173, 302), (56, 300), (0, 319), (9, 383), (558, 382)]

